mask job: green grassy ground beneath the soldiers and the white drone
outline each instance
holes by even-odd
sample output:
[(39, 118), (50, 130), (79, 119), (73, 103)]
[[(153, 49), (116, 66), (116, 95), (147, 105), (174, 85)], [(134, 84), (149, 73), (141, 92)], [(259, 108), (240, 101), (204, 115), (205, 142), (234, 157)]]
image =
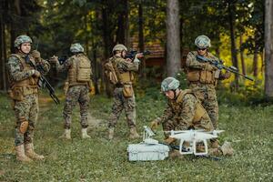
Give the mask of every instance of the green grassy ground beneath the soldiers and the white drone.
[[(137, 127), (148, 125), (163, 110), (161, 96), (137, 97)], [(62, 102), (63, 104), (63, 102)], [(233, 157), (220, 161), (186, 156), (154, 162), (128, 162), (130, 143), (125, 116), (116, 127), (114, 141), (106, 139), (106, 118), (112, 101), (104, 96), (91, 100), (89, 134), (80, 139), (78, 108), (74, 112), (72, 141), (59, 139), (63, 132), (62, 107), (41, 99), (35, 132), (37, 153), (45, 161), (21, 164), (15, 161), (13, 116), (9, 100), (0, 96), (0, 181), (272, 181), (273, 106), (220, 106), (220, 140), (232, 142)], [(161, 136), (157, 136), (162, 139)]]

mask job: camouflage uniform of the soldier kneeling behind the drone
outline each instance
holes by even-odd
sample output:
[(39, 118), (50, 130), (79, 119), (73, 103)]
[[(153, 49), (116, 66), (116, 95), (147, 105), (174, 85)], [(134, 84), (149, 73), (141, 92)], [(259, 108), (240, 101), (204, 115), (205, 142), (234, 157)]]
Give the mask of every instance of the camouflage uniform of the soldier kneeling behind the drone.
[(213, 130), (206, 110), (190, 90), (180, 90), (176, 99), (168, 99), (164, 114), (157, 117), (164, 131), (205, 129)]

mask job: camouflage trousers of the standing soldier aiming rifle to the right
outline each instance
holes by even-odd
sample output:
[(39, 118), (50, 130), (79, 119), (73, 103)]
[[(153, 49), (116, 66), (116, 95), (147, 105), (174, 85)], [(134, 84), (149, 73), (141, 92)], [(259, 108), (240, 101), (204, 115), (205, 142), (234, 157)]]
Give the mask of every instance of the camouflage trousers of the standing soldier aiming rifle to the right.
[(114, 90), (114, 104), (109, 118), (108, 127), (115, 127), (117, 120), (125, 109), (126, 121), (129, 128), (136, 127), (136, 99), (135, 96), (123, 96), (122, 87), (116, 87)]

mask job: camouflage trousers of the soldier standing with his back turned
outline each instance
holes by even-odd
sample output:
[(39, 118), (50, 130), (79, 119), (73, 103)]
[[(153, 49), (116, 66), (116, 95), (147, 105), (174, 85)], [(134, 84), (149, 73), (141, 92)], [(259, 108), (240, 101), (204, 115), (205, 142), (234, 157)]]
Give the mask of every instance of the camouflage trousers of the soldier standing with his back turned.
[(69, 129), (72, 121), (72, 111), (76, 103), (80, 107), (80, 123), (83, 128), (88, 126), (87, 116), (89, 107), (89, 88), (87, 86), (71, 86), (66, 93), (66, 104), (64, 107), (63, 116), (65, 118), (65, 128)]

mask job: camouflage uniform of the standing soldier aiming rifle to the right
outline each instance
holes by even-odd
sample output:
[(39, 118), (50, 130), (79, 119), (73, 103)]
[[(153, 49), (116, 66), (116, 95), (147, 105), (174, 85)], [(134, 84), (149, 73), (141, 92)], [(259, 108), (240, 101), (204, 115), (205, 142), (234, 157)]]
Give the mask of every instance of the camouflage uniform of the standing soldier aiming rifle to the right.
[(132, 86), (132, 81), (134, 79), (132, 71), (138, 70), (138, 62), (130, 63), (126, 61), (126, 59), (118, 56), (111, 57), (110, 61), (112, 61), (114, 67), (116, 67), (116, 72), (118, 72), (116, 75), (119, 83), (116, 84), (116, 88), (114, 90), (114, 104), (112, 106), (112, 113), (109, 118), (108, 127), (111, 128), (116, 126), (118, 117), (120, 116), (122, 110), (125, 109), (127, 125), (129, 128), (134, 128), (136, 127), (135, 95), (133, 93), (132, 96), (124, 96), (123, 88), (124, 85)]

